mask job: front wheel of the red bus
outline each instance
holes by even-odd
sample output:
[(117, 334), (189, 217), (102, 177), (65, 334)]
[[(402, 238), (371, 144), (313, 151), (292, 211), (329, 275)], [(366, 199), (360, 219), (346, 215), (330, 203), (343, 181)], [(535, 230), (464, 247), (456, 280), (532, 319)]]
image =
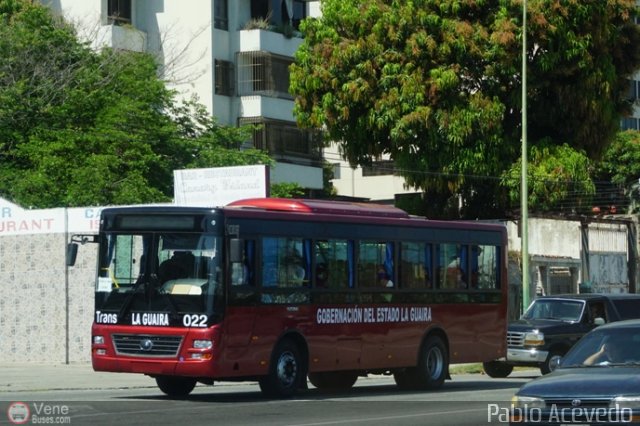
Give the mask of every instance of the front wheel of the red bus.
[(289, 398), (305, 376), (300, 349), (290, 339), (284, 339), (273, 350), (269, 373), (259, 380), (260, 390), (269, 398)]

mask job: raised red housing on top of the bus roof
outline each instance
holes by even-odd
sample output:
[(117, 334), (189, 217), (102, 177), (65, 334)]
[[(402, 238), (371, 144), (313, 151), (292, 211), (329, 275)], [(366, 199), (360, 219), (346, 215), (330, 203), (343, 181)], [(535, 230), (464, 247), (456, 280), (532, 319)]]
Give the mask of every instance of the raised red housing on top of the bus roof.
[(409, 214), (397, 207), (384, 204), (352, 203), (293, 198), (248, 198), (229, 203), (226, 207), (248, 208), (292, 213), (340, 214), (388, 218), (409, 218)]

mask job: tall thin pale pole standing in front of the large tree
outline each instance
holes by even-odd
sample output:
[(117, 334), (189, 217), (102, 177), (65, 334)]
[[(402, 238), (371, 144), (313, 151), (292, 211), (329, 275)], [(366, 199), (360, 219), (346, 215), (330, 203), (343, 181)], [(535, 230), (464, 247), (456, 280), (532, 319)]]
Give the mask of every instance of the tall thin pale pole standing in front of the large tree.
[(529, 206), (527, 187), (527, 0), (522, 0), (522, 176), (520, 229), (522, 242), (522, 311), (529, 306)]

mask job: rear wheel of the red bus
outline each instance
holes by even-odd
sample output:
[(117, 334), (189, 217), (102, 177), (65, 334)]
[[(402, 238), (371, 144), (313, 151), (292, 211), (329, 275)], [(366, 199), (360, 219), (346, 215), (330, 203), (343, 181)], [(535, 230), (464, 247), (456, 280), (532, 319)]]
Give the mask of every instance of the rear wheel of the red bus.
[(422, 345), (416, 380), (419, 389), (438, 389), (449, 373), (447, 347), (438, 336), (431, 336)]

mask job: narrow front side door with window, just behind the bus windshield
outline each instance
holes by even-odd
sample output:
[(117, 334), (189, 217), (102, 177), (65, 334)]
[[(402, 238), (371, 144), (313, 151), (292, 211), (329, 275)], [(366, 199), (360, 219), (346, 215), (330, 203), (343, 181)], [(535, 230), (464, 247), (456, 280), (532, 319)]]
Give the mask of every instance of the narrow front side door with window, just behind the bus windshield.
[(235, 240), (238, 247), (230, 256), (228, 303), (225, 320), (227, 347), (246, 347), (251, 342), (255, 326), (258, 292), (255, 277), (255, 240)]

